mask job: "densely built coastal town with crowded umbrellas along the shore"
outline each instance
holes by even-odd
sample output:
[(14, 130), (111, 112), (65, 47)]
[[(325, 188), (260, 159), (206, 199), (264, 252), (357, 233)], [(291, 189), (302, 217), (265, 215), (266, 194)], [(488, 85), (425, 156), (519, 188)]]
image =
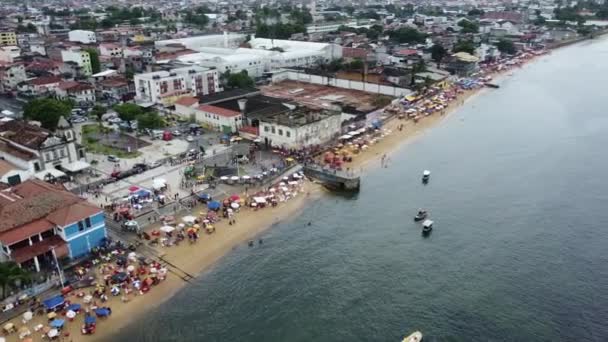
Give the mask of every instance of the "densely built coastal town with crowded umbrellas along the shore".
[(0, 4), (3, 322), (79, 293), (91, 260), (137, 252), (167, 272), (179, 234), (304, 192), (298, 167), (351, 172), (387, 120), (443, 114), (608, 25), (603, 0), (364, 3)]

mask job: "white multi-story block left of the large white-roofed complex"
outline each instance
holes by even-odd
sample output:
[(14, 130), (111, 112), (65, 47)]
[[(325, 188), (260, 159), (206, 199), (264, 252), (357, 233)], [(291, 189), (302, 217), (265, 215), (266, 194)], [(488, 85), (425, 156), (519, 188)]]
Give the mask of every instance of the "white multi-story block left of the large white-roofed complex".
[(200, 66), (135, 75), (135, 98), (140, 102), (171, 105), (184, 95), (222, 91), (217, 70)]

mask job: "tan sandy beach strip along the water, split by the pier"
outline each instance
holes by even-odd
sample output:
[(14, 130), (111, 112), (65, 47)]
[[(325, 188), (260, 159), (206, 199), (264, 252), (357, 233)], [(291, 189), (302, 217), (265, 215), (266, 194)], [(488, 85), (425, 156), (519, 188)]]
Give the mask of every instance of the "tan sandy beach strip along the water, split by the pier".
[[(506, 71), (503, 71), (502, 74), (504, 72)], [(499, 77), (499, 75), (495, 74), (494, 77)], [(376, 144), (371, 145), (367, 150), (354, 156), (353, 161), (347, 164), (347, 166), (353, 170), (360, 170), (363, 174), (376, 167), (381, 167), (380, 159), (382, 155), (386, 154), (390, 160), (390, 154), (395, 150), (402, 148), (406, 143), (419, 137), (426, 130), (447, 118), (450, 113), (465, 104), (473, 96), (479, 95), (484, 91), (487, 90), (483, 87), (466, 90), (458, 94), (457, 98), (451, 101), (441, 113), (438, 112), (423, 117), (417, 123), (413, 120), (399, 120), (397, 117), (393, 117), (383, 126), (384, 129), (391, 131), (391, 133)], [(398, 126), (401, 124), (403, 125), (403, 129), (399, 130)], [(325, 191), (320, 185), (305, 181), (301, 192), (291, 200), (280, 203), (274, 208), (264, 208), (261, 211), (243, 208), (236, 215), (236, 225), (228, 225), (227, 220), (222, 220), (216, 224), (216, 232), (214, 234), (202, 234), (202, 237), (196, 244), (183, 243), (179, 246), (157, 248), (164, 253), (163, 258), (165, 260), (195, 277), (200, 277), (231, 250), (234, 248), (248, 248), (247, 241), (252, 240), (256, 235), (274, 224), (296, 216), (306, 206), (308, 201), (319, 198)], [(196, 215), (201, 209), (200, 206), (195, 207), (192, 213)], [(158, 228), (158, 225), (151, 228)], [(188, 282), (169, 273), (167, 278), (157, 286), (153, 286), (150, 292), (145, 295), (135, 295), (127, 303), (123, 303), (120, 296), (110, 297), (109, 301), (104, 303), (104, 305), (112, 308), (112, 315), (98, 320), (97, 330), (94, 335), (81, 335), (80, 328), (84, 316), (81, 313), (73, 322), (67, 323), (63, 331), (64, 333), (69, 333), (69, 336), (63, 337), (63, 340), (107, 341), (109, 340), (109, 336), (119, 332), (137, 317), (153, 310), (164, 301), (170, 299), (171, 296), (186, 285), (188, 285)], [(74, 295), (68, 295), (66, 299), (78, 302), (78, 299)], [(23, 326), (20, 317), (12, 322), (17, 329)], [(27, 325), (28, 327), (32, 327), (39, 323), (48, 324), (46, 317), (35, 316), (34, 320)], [(42, 341), (41, 335), (41, 332), (32, 331), (31, 337), (34, 341)], [(19, 341), (18, 334), (13, 333), (8, 335), (7, 341)]]

